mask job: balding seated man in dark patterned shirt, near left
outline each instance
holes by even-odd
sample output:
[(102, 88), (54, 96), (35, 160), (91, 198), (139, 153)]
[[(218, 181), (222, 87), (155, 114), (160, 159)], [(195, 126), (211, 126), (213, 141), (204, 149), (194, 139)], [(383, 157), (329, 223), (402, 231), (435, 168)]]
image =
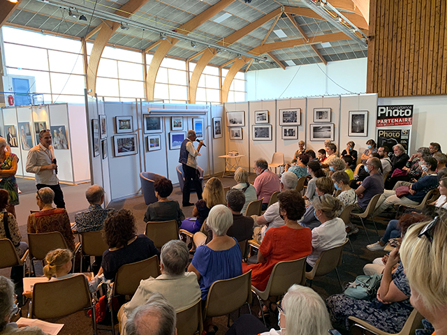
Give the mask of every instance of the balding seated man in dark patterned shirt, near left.
[(85, 191), (85, 198), (89, 202), (89, 209), (75, 214), (73, 230), (77, 232), (94, 232), (103, 229), (103, 222), (113, 209), (103, 209), (104, 188), (99, 185), (91, 185)]

